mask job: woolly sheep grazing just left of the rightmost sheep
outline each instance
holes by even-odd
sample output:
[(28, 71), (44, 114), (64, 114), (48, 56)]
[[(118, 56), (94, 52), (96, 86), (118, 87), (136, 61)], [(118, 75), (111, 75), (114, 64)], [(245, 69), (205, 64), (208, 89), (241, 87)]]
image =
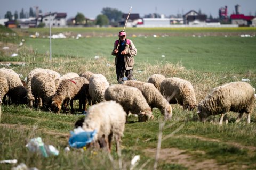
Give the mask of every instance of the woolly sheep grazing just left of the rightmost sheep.
[(194, 110), (196, 95), (190, 82), (180, 78), (166, 78), (160, 84), (160, 92), (170, 104), (180, 104), (183, 109)]

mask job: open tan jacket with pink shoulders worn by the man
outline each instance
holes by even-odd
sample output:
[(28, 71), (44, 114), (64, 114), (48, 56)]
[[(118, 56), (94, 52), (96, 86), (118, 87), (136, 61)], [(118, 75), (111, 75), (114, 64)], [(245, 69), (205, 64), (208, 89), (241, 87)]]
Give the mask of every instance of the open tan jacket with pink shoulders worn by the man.
[[(118, 46), (118, 42), (115, 41), (114, 43), (114, 49), (112, 50), (112, 55), (115, 55), (115, 65), (117, 63), (117, 57), (118, 57), (118, 53), (115, 54), (114, 50), (116, 49), (116, 47)], [(124, 55), (124, 64), (125, 64), (125, 70), (130, 70), (133, 68), (134, 65), (134, 58), (133, 56), (135, 56), (137, 54), (137, 49), (135, 48), (134, 44), (132, 43), (131, 40), (126, 39), (126, 44), (125, 44), (125, 48), (124, 50), (126, 51), (127, 54)]]

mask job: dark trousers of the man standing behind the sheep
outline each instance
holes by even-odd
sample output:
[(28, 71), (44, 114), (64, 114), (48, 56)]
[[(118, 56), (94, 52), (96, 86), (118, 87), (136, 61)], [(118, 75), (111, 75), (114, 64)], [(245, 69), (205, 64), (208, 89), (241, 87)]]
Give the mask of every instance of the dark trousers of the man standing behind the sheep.
[(117, 77), (118, 83), (123, 84), (123, 82), (124, 82), (124, 73), (125, 73), (125, 76), (127, 77), (128, 80), (132, 80), (133, 79), (132, 70), (133, 69), (125, 70), (124, 63), (122, 63), (122, 64), (117, 63), (116, 64), (116, 77)]

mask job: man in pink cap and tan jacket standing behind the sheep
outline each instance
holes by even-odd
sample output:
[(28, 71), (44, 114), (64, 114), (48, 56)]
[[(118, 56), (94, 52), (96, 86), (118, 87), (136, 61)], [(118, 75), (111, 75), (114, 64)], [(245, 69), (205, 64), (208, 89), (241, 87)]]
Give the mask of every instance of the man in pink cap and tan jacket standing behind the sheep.
[(114, 43), (112, 55), (115, 55), (116, 76), (119, 84), (124, 82), (124, 73), (128, 80), (133, 79), (134, 58), (137, 49), (130, 39), (126, 39), (126, 32), (119, 32), (119, 39)]

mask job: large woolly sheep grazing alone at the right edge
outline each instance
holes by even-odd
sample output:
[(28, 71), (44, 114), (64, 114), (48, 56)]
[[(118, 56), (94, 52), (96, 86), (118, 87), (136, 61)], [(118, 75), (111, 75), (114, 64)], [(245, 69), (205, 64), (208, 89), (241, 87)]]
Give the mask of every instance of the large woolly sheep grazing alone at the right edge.
[(247, 123), (250, 123), (254, 100), (254, 90), (249, 83), (231, 82), (214, 88), (204, 100), (200, 101), (197, 113), (203, 122), (210, 115), (221, 114), (219, 124), (222, 124), (224, 116), (226, 119), (226, 112), (238, 112), (239, 115), (236, 122), (241, 120), (245, 112), (247, 114)]

